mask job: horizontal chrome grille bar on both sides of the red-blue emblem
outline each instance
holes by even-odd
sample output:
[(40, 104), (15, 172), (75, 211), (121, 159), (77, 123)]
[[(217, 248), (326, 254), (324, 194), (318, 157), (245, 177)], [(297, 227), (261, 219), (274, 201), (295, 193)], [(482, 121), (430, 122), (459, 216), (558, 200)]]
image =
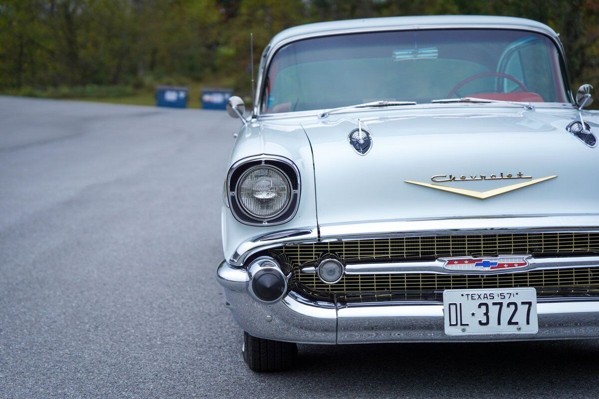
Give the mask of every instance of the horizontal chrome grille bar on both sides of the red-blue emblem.
[[(376, 275), (376, 274), (409, 274), (433, 273), (442, 275), (499, 275), (529, 272), (537, 269), (564, 269), (574, 267), (599, 267), (599, 256), (562, 257), (562, 258), (528, 258), (528, 266), (514, 267), (513, 269), (496, 269), (489, 271), (478, 270), (451, 270), (444, 267), (445, 262), (437, 259), (434, 261), (420, 262), (391, 262), (391, 263), (353, 263), (346, 264), (347, 275)], [(304, 269), (302, 269), (304, 272)]]

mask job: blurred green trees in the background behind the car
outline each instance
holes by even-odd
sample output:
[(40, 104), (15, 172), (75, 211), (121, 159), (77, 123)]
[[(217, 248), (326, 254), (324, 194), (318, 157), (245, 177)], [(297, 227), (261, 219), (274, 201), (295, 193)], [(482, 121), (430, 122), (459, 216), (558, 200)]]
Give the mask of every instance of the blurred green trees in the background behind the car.
[(539, 20), (561, 34), (574, 89), (599, 85), (597, 0), (0, 0), (0, 89), (226, 77), (249, 95), (250, 32), (257, 66), (291, 26), (417, 14)]

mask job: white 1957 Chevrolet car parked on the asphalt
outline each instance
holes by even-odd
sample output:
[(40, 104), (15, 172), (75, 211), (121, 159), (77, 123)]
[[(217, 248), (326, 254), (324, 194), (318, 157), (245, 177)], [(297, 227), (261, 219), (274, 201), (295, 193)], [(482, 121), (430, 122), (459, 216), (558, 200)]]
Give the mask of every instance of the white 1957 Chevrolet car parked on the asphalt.
[(599, 337), (599, 114), (510, 17), (287, 29), (225, 179), (217, 281), (252, 370), (296, 343)]

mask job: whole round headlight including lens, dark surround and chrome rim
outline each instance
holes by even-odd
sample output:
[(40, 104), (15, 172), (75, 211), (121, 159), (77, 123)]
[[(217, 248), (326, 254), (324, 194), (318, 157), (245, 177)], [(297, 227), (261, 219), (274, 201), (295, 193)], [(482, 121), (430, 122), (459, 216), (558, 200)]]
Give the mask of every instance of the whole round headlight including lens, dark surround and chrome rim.
[(272, 155), (248, 157), (229, 169), (226, 199), (241, 223), (272, 226), (295, 216), (299, 185), (299, 171), (291, 160)]

